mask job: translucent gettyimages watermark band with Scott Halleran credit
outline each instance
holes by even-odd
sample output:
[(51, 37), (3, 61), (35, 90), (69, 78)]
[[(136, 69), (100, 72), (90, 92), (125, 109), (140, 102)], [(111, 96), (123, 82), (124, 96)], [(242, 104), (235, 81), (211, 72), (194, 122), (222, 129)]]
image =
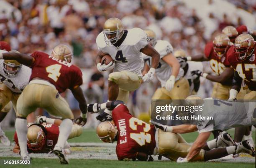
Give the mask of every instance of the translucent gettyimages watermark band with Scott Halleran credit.
[(228, 125), (255, 125), (256, 101), (152, 100), (151, 120), (164, 125), (218, 123), (220, 130), (225, 129), (226, 123)]

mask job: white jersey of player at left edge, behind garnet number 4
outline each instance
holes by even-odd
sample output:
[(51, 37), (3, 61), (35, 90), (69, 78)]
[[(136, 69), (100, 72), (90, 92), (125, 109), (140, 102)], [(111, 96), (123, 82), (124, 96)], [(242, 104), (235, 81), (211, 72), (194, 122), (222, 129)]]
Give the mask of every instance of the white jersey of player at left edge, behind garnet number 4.
[[(0, 50), (0, 53), (7, 51)], [(22, 65), (18, 74), (14, 77), (9, 77), (4, 71), (4, 60), (0, 60), (0, 81), (5, 84), (11, 91), (21, 93), (27, 86), (31, 75), (31, 69), (28, 66)]]

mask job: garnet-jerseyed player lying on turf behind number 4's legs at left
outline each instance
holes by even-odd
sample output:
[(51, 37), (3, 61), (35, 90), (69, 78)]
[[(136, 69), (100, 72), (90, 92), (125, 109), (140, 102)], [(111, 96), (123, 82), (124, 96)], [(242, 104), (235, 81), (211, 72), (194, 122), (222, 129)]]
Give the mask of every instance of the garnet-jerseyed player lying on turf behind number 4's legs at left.
[[(29, 153), (52, 153), (54, 146), (59, 137), (59, 125), (61, 120), (51, 119), (44, 116), (36, 118), (36, 124), (28, 127), (27, 133), (27, 148)], [(82, 134), (83, 127), (73, 124), (72, 131), (68, 139), (79, 137)], [(18, 143), (17, 132), (14, 134), (15, 146), (13, 147), (14, 153), (20, 153), (20, 146)], [(70, 146), (66, 141), (64, 146), (65, 154), (70, 154)]]

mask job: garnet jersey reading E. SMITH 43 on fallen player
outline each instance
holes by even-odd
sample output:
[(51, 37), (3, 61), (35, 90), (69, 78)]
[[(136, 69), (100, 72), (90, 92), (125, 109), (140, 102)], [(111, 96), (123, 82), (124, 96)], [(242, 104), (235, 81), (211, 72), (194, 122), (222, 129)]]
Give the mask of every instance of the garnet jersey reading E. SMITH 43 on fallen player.
[(152, 155), (156, 146), (155, 127), (133, 117), (124, 104), (118, 105), (112, 113), (118, 129), (116, 154), (118, 160), (136, 159), (138, 152)]

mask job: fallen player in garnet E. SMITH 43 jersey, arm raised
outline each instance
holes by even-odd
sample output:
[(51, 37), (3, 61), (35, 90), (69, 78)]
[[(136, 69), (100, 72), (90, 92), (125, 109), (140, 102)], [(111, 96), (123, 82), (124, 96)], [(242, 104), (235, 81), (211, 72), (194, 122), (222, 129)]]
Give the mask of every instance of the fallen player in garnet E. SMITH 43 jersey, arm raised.
[[(118, 160), (153, 161), (153, 154), (177, 160), (188, 155), (191, 145), (181, 135), (164, 132), (156, 129), (154, 125), (138, 120), (129, 113), (122, 101), (89, 104), (88, 112), (95, 113), (105, 108), (113, 110), (113, 121), (100, 123), (97, 126), (97, 135), (106, 143), (117, 141)], [(220, 146), (226, 148), (214, 149)], [(191, 161), (206, 161), (241, 152), (251, 154), (254, 152), (252, 149), (247, 141), (234, 145), (232, 138), (226, 133), (209, 143), (204, 143), (203, 148)]]

